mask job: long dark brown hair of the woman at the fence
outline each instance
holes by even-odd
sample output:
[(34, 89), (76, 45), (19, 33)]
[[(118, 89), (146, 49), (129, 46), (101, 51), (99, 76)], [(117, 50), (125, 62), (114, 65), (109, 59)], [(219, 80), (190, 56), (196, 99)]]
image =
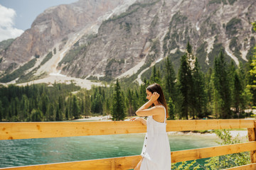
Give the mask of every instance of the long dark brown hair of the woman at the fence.
[[(168, 114), (166, 99), (164, 98), (164, 93), (163, 93), (163, 90), (161, 89), (161, 86), (159, 84), (154, 83), (154, 84), (147, 86), (146, 90), (150, 91), (152, 94), (154, 92), (159, 94), (159, 98), (157, 98), (157, 101), (159, 103), (161, 103), (164, 106), (164, 108), (166, 108), (166, 118), (168, 118), (169, 114)], [(154, 106), (154, 104), (153, 104), (153, 106)]]

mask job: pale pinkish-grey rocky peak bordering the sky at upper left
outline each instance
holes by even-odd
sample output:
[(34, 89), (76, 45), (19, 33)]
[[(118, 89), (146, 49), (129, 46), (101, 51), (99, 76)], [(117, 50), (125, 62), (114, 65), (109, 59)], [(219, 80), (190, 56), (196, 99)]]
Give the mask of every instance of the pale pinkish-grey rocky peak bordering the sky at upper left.
[(0, 70), (11, 72), (33, 57), (43, 57), (55, 44), (68, 39), (68, 35), (97, 23), (100, 16), (120, 4), (122, 0), (89, 0), (48, 8), (36, 18), (31, 29), (26, 30), (9, 48), (1, 52), (3, 61)]

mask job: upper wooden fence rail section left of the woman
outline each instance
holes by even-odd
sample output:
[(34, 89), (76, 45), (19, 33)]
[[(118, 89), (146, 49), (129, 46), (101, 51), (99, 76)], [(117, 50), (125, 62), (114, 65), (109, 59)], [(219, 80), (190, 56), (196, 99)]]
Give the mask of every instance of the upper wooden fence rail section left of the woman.
[(146, 132), (146, 125), (139, 121), (0, 123), (0, 140), (139, 132)]

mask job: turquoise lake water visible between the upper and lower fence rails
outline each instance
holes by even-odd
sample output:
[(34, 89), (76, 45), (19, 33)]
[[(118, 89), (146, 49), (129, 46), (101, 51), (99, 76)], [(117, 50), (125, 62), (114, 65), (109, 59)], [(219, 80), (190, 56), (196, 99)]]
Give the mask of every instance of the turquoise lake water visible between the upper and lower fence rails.
[[(145, 134), (0, 140), (0, 167), (140, 154)], [(169, 135), (171, 151), (216, 146), (213, 135)]]

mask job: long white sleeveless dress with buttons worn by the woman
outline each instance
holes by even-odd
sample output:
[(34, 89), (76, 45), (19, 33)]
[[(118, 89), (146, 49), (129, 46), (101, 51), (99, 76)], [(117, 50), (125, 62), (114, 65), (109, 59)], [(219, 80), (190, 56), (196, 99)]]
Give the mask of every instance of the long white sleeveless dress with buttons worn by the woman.
[[(166, 115), (165, 108), (164, 112)], [(146, 120), (146, 136), (141, 155), (143, 159), (140, 170), (171, 169), (171, 149), (166, 133), (166, 116), (164, 123), (159, 123), (152, 116), (148, 116)]]

